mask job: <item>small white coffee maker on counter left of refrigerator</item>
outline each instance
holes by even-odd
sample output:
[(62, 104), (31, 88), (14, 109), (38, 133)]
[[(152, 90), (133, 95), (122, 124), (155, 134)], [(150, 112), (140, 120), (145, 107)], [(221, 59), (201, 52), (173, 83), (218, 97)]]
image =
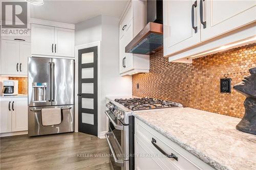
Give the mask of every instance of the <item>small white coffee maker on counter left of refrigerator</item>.
[(18, 94), (18, 81), (17, 80), (4, 80), (2, 93), (4, 95), (17, 95)]

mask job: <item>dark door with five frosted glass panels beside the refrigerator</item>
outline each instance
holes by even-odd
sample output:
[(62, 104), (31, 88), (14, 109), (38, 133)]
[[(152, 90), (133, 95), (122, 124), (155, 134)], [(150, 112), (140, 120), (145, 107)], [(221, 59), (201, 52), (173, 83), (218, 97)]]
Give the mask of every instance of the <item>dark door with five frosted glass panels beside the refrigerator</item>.
[(97, 46), (78, 50), (78, 131), (98, 135)]

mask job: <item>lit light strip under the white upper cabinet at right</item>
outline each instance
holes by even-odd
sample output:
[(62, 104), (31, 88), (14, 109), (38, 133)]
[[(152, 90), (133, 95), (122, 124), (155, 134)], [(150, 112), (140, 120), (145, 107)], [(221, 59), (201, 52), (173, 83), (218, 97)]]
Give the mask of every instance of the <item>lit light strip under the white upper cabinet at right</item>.
[(236, 47), (236, 46), (238, 47), (239, 45), (247, 45), (247, 43), (252, 43), (252, 42), (256, 42), (256, 36), (254, 36), (252, 38), (249, 38), (249, 39), (246, 39), (246, 40), (243, 40), (243, 41), (234, 42), (234, 43), (228, 44), (228, 45), (223, 45), (221, 47), (215, 48), (214, 50), (203, 52), (203, 53), (200, 53), (200, 54), (197, 54), (197, 55), (194, 55), (194, 56), (190, 56), (190, 57), (191, 58), (197, 58), (197, 57), (200, 57), (200, 56), (213, 54), (215, 52), (220, 52), (220, 51), (223, 51), (223, 50), (228, 50), (228, 49), (230, 49), (232, 47)]

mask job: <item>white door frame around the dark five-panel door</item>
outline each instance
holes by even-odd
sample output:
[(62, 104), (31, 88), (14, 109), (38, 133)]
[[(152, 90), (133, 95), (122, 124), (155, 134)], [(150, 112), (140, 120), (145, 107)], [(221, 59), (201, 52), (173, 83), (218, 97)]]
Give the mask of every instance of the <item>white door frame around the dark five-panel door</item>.
[(100, 137), (100, 75), (101, 75), (101, 41), (95, 41), (87, 44), (82, 45), (76, 45), (75, 46), (75, 132), (78, 132), (78, 50), (81, 50), (83, 48), (89, 48), (97, 46), (98, 51), (98, 64), (97, 64), (97, 70), (98, 70), (98, 95), (97, 95), (97, 115), (98, 115), (98, 137)]

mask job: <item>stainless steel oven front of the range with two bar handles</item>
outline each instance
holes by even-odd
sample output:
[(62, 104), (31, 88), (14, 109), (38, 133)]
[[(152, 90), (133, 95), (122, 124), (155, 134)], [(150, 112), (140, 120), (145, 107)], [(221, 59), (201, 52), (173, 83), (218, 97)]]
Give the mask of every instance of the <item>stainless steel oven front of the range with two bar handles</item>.
[(114, 169), (129, 169), (129, 126), (123, 125), (108, 110), (109, 132), (105, 134), (110, 147), (110, 160)]

